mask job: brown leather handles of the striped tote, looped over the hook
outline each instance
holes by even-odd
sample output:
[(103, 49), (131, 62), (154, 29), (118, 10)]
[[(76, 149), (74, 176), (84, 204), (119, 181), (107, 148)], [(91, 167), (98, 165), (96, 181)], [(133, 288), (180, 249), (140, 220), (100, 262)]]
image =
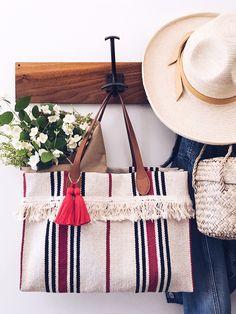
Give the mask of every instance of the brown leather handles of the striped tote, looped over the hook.
[[(148, 177), (148, 175), (144, 169), (144, 166), (143, 166), (140, 149), (138, 146), (138, 142), (137, 142), (135, 132), (134, 132), (133, 126), (131, 124), (128, 112), (126, 110), (126, 107), (124, 105), (122, 97), (120, 96), (120, 94), (118, 94), (118, 95), (119, 95), (119, 99), (120, 99), (121, 106), (122, 106), (122, 111), (123, 111), (123, 116), (124, 116), (124, 120), (125, 120), (128, 139), (129, 139), (129, 143), (130, 143), (130, 150), (131, 150), (132, 158), (133, 158), (134, 164), (136, 166), (137, 190), (138, 190), (140, 195), (146, 195), (150, 189), (150, 180), (149, 180), (149, 177)], [(83, 158), (83, 154), (85, 152), (86, 145), (89, 141), (92, 130), (93, 130), (96, 122), (101, 121), (103, 113), (106, 109), (107, 104), (109, 103), (111, 96), (112, 96), (112, 94), (110, 93), (104, 99), (100, 109), (98, 110), (98, 112), (97, 112), (95, 118), (93, 119), (88, 131), (86, 132), (83, 140), (80, 143), (80, 146), (77, 150), (77, 153), (76, 153), (76, 156), (74, 159), (74, 163), (73, 163), (71, 171), (70, 171), (70, 178), (73, 182), (77, 181), (78, 174), (80, 174), (81, 160)]]

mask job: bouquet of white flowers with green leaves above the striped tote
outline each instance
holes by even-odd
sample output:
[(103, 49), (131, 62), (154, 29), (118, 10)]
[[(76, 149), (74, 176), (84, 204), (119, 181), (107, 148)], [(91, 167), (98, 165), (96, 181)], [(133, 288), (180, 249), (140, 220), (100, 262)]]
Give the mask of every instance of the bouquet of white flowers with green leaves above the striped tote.
[(70, 161), (83, 138), (91, 114), (83, 116), (53, 104), (32, 105), (20, 98), (14, 110), (0, 115), (0, 160), (6, 165), (40, 170)]

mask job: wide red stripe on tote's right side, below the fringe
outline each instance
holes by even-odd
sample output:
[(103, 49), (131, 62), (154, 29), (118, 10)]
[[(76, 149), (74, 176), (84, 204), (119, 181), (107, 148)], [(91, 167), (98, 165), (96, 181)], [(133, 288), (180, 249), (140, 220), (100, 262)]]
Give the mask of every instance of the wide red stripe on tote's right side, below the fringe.
[(158, 281), (158, 264), (156, 250), (155, 222), (146, 222), (148, 242), (148, 263), (149, 263), (149, 286), (148, 292), (156, 292)]

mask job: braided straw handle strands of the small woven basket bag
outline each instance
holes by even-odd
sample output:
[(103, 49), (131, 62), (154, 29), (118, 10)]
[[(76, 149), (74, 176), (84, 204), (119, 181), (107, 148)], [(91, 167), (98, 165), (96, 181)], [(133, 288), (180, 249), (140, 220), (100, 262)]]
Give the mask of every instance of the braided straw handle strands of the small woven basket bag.
[[(193, 187), (195, 193), (197, 192), (197, 179), (196, 179), (197, 168), (198, 168), (198, 164), (202, 158), (202, 155), (203, 155), (206, 147), (207, 147), (207, 145), (204, 144), (198, 157), (195, 159), (194, 166), (193, 166), (192, 187)], [(224, 168), (225, 168), (225, 164), (226, 164), (228, 158), (232, 155), (232, 152), (233, 152), (233, 145), (229, 145), (228, 152), (221, 161), (221, 168), (220, 168), (220, 191), (221, 192), (224, 192), (226, 190), (226, 184), (225, 184), (225, 179), (224, 179)]]

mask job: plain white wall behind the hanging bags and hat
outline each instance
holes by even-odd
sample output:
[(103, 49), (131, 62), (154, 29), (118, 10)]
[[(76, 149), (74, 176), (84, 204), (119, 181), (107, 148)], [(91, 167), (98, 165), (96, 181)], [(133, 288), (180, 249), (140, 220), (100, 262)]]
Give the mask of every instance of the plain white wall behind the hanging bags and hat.
[[(109, 44), (104, 37), (111, 34), (121, 37), (116, 49), (118, 61), (141, 61), (149, 38), (163, 23), (193, 12), (230, 10), (236, 10), (235, 0), (2, 0), (0, 95), (14, 99), (15, 61), (109, 61)], [(119, 108), (111, 107), (103, 124), (107, 153), (112, 166), (125, 166), (129, 164), (129, 152), (123, 121)], [(96, 109), (96, 106), (81, 106), (83, 112)], [(128, 109), (145, 164), (160, 164), (170, 152), (174, 134), (159, 122), (150, 108), (130, 106)], [(13, 214), (22, 190), (20, 173), (0, 166), (0, 177), (1, 314), (182, 313), (180, 306), (167, 305), (164, 295), (20, 293), (21, 226)], [(232, 313), (236, 313), (235, 295), (232, 303)]]

